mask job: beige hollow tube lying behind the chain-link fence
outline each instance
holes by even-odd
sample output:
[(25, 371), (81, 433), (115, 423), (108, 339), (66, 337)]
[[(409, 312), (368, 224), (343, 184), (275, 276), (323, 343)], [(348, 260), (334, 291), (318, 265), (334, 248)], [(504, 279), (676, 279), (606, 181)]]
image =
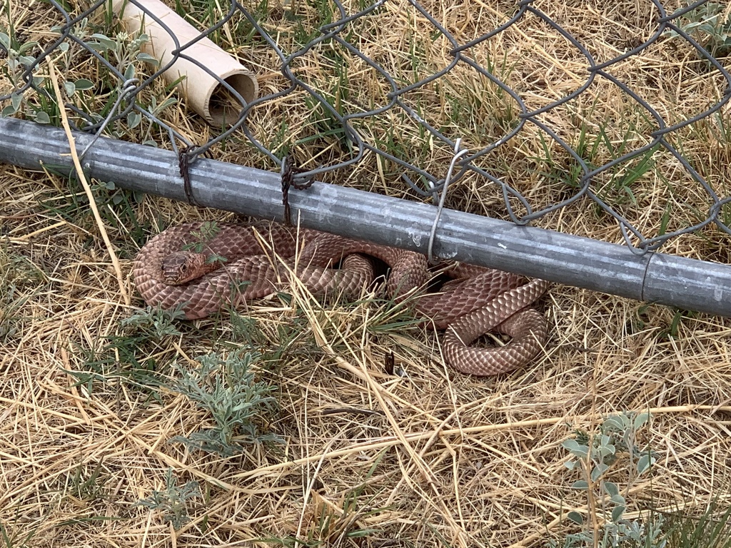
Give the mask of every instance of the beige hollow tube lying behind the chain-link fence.
[[(121, 17), (124, 26), (131, 33), (142, 31), (150, 37), (143, 45), (143, 51), (161, 62), (168, 64), (175, 50), (175, 42), (162, 26), (148, 14), (155, 15), (173, 32), (181, 46), (200, 36), (200, 31), (186, 23), (180, 15), (159, 0), (137, 0), (141, 7), (126, 0), (113, 0), (115, 13)], [(120, 13), (121, 9), (124, 12)], [(246, 102), (251, 102), (259, 92), (257, 79), (243, 65), (208, 38), (203, 38), (186, 47), (181, 53), (206, 66), (221, 80), (234, 88)], [(240, 105), (219, 80), (205, 72), (200, 66), (178, 58), (163, 74), (167, 83), (173, 83), (181, 76), (178, 87), (183, 91), (193, 110), (200, 114), (211, 126), (230, 126), (238, 120)]]

